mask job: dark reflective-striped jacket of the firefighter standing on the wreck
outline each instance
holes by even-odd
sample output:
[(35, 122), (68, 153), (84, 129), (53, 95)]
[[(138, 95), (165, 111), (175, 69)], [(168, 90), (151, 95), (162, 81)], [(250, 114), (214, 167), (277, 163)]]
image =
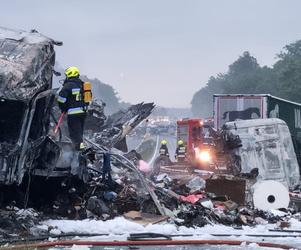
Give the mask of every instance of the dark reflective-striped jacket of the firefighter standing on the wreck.
[(67, 112), (68, 115), (85, 113), (87, 107), (82, 93), (81, 79), (78, 77), (66, 79), (57, 99), (61, 111)]

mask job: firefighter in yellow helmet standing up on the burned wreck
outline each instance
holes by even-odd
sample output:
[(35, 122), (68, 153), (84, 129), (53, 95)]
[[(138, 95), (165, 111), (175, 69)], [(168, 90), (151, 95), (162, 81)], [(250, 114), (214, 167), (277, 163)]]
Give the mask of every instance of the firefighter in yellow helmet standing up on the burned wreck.
[(88, 105), (83, 100), (84, 82), (79, 75), (77, 67), (72, 66), (65, 70), (66, 79), (57, 101), (61, 111), (68, 115), (69, 135), (74, 148), (81, 151), (85, 148), (83, 133)]

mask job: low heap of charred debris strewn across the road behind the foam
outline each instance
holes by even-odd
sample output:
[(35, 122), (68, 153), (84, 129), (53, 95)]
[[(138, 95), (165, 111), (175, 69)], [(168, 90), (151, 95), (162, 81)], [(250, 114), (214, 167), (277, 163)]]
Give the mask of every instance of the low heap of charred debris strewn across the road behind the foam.
[[(103, 180), (99, 174), (91, 171), (93, 176), (84, 188), (82, 184), (68, 186), (63, 181), (62, 186), (65, 185), (66, 189), (61, 190), (52, 204), (39, 208), (39, 212), (16, 208), (1, 210), (1, 228), (5, 230), (2, 229), (0, 235), (9, 239), (16, 234), (49, 234), (51, 229), (37, 231), (36, 225), (41, 220), (66, 217), (108, 220), (124, 216), (140, 224), (168, 220), (186, 227), (203, 227), (207, 224), (241, 227), (268, 223), (289, 227), (287, 221), (290, 218), (301, 219), (301, 214), (291, 208), (262, 211), (251, 205), (238, 204), (226, 195), (207, 192), (204, 180), (198, 176), (179, 180), (162, 174), (152, 182), (132, 167), (113, 165), (112, 180)], [(150, 193), (146, 186), (154, 193)]]

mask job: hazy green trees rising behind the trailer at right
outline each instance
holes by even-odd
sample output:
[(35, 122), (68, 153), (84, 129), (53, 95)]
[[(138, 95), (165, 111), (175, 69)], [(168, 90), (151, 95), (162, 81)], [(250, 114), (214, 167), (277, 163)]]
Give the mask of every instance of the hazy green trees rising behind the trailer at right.
[(248, 51), (226, 73), (210, 77), (191, 101), (196, 117), (213, 113), (213, 94), (272, 94), (301, 103), (301, 40), (286, 45), (272, 67), (261, 67)]

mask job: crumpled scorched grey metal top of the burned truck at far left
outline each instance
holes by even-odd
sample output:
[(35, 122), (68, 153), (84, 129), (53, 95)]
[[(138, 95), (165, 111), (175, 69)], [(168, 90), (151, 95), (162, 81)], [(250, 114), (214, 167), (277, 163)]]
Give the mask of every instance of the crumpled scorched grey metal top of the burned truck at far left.
[(59, 43), (37, 31), (0, 27), (0, 97), (29, 101), (51, 88), (53, 44)]

